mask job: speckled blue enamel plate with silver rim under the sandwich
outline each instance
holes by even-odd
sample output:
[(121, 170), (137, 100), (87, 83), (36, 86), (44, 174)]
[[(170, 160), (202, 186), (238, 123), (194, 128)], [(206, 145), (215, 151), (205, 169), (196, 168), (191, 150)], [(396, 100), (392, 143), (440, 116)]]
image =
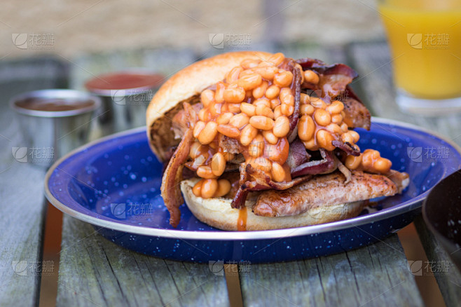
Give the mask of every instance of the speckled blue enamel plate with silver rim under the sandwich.
[(64, 213), (92, 224), (130, 250), (179, 261), (291, 261), (352, 250), (382, 240), (420, 214), (437, 182), (461, 168), (453, 142), (427, 130), (373, 118), (358, 129), (359, 146), (377, 149), (392, 168), (408, 172), (403, 194), (378, 201), (378, 210), (328, 224), (270, 231), (221, 231), (181, 206), (177, 228), (160, 197), (163, 165), (149, 149), (145, 128), (86, 144), (57, 161), (45, 179), (46, 197)]

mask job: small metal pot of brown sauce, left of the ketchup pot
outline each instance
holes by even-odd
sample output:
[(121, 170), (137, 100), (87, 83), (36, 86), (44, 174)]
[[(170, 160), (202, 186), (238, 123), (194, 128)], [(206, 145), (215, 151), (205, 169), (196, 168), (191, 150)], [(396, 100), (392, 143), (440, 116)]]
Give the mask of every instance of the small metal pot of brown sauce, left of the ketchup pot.
[(12, 149), (14, 158), (49, 167), (57, 158), (88, 142), (92, 114), (101, 106), (101, 100), (78, 90), (50, 89), (17, 95), (10, 100), (10, 106), (19, 114), (23, 136), (22, 143)]

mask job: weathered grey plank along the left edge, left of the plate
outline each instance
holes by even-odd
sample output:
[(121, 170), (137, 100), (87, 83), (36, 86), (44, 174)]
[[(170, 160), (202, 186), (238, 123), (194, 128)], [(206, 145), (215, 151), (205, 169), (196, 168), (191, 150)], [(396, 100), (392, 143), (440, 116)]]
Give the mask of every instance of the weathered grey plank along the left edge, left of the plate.
[(3, 149), (0, 152), (0, 306), (34, 306), (39, 302), (46, 212), (43, 198), (46, 170), (13, 157), (13, 147), (27, 144), (8, 100), (26, 90), (64, 85), (61, 73), (60, 64), (52, 59), (0, 65), (0, 146)]

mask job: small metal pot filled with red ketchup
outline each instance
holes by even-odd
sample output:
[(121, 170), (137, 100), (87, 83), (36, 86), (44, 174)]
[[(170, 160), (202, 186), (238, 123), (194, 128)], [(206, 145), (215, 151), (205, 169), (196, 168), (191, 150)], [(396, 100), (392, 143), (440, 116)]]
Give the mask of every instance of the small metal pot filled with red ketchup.
[(85, 83), (85, 88), (102, 99), (98, 121), (102, 135), (146, 124), (146, 109), (164, 76), (142, 69), (102, 74)]

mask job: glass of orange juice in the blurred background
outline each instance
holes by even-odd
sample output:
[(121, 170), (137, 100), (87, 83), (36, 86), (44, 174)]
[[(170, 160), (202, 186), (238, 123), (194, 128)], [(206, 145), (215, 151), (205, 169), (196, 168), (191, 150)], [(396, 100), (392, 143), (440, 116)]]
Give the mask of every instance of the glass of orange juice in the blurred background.
[(380, 0), (397, 104), (410, 113), (461, 111), (461, 0)]

